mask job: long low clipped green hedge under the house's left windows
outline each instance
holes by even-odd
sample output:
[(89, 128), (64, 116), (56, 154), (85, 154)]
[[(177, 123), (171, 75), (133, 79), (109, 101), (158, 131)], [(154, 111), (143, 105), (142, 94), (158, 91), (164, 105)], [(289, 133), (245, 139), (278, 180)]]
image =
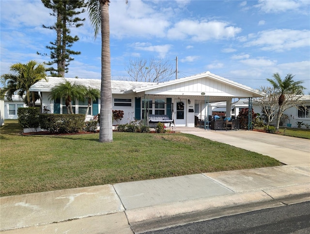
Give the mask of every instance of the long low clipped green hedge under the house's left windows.
[(78, 133), (84, 127), (85, 115), (82, 114), (41, 114), (41, 129), (51, 133)]

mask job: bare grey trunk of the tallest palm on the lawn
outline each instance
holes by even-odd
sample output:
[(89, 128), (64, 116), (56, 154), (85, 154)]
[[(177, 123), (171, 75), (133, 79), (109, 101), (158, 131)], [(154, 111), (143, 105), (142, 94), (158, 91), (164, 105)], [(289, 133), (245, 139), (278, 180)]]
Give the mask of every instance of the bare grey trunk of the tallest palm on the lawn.
[(109, 0), (100, 0), (101, 15), (101, 90), (99, 142), (113, 141), (110, 62)]

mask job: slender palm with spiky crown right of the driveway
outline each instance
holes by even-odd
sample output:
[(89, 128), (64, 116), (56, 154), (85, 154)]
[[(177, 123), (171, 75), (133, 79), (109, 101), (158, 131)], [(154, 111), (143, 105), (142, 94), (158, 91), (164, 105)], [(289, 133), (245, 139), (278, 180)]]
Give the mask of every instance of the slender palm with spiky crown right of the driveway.
[(274, 80), (267, 79), (267, 81), (272, 84), (272, 86), (275, 88), (276, 91), (279, 92), (279, 110), (277, 114), (277, 127), (276, 131), (279, 131), (279, 123), (280, 123), (280, 117), (283, 113), (283, 103), (285, 102), (285, 95), (289, 94), (302, 94), (302, 90), (305, 89), (304, 86), (300, 85), (304, 83), (303, 81), (294, 81), (294, 75), (287, 74), (284, 80), (282, 81), (279, 73), (274, 73), (273, 75)]

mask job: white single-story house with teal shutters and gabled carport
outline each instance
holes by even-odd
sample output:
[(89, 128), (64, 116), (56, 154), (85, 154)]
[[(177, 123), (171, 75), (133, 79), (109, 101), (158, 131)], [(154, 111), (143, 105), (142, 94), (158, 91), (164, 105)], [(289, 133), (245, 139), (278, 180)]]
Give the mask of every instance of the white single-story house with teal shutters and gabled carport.
[[(64, 100), (50, 100), (51, 89), (64, 79), (100, 89), (101, 80), (47, 77), (33, 84), (30, 91), (37, 91), (42, 97), (42, 106), (51, 113), (66, 113)], [(208, 108), (212, 102), (228, 103), (226, 113), (231, 115), (232, 100), (237, 98), (263, 97), (263, 93), (248, 86), (235, 83), (210, 72), (181, 78), (164, 83), (144, 83), (129, 81), (111, 81), (113, 110), (123, 110), (121, 124), (132, 120), (146, 119), (148, 114), (168, 115), (176, 126), (195, 127), (195, 115), (200, 118), (212, 115)], [(76, 114), (85, 114), (87, 100), (73, 100)], [(91, 104), (88, 118), (100, 112), (100, 100)], [(148, 113), (148, 114), (147, 114)], [(116, 121), (113, 122), (116, 124)]]

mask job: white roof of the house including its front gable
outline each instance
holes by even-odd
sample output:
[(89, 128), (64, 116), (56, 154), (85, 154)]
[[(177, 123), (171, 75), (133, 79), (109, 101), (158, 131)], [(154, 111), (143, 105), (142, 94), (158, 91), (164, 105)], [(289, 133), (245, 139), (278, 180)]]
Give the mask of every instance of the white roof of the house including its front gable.
[[(53, 87), (64, 83), (65, 80), (97, 89), (100, 89), (101, 87), (101, 80), (99, 79), (47, 77), (47, 81), (41, 80), (36, 84), (33, 84), (30, 91), (50, 92)], [(218, 97), (248, 98), (264, 96), (264, 94), (258, 90), (252, 89), (243, 84), (235, 83), (212, 74), (209, 71), (163, 83), (112, 80), (111, 86), (112, 94), (136, 93), (137, 95), (209, 96), (210, 98), (217, 97), (217, 99)]]

